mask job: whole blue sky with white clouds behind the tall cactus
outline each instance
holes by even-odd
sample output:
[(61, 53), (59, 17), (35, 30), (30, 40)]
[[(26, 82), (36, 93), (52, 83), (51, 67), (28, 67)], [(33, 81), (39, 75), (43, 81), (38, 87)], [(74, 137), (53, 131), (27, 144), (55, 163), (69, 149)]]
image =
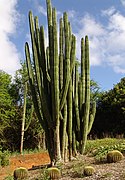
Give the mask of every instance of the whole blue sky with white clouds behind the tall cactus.
[[(125, 0), (52, 0), (58, 19), (68, 12), (72, 31), (90, 39), (91, 79), (110, 90), (125, 76)], [(46, 0), (0, 0), (0, 69), (14, 75), (25, 59), (24, 44), (30, 42), (28, 12), (46, 24)], [(46, 40), (47, 44), (47, 40)]]

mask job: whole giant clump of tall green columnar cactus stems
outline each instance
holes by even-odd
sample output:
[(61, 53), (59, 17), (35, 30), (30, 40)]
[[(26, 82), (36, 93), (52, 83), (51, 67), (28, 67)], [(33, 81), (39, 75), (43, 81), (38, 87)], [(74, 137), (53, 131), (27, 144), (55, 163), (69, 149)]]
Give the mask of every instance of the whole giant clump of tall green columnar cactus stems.
[[(90, 115), (90, 74), (88, 37), (81, 41), (81, 76), (76, 63), (76, 38), (72, 34), (67, 13), (60, 19), (59, 45), (56, 9), (46, 0), (48, 47), (45, 47), (44, 28), (38, 17), (29, 12), (33, 66), (28, 43), (26, 62), (34, 108), (46, 135), (51, 161), (69, 159), (76, 154), (76, 139), (84, 151), (95, 111)], [(84, 45), (85, 44), (85, 45)], [(59, 47), (59, 50), (58, 50)], [(95, 107), (95, 106), (94, 106)], [(90, 120), (89, 120), (90, 119)], [(68, 143), (68, 144), (67, 144)]]

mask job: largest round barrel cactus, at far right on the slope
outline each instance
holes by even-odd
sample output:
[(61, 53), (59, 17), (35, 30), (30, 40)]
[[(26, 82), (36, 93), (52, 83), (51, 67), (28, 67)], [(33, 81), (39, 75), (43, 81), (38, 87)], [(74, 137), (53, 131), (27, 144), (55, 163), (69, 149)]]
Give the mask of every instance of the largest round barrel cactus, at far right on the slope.
[(107, 162), (113, 163), (113, 162), (118, 162), (123, 159), (123, 154), (118, 151), (118, 150), (113, 150), (108, 152), (107, 154)]

